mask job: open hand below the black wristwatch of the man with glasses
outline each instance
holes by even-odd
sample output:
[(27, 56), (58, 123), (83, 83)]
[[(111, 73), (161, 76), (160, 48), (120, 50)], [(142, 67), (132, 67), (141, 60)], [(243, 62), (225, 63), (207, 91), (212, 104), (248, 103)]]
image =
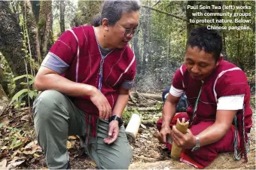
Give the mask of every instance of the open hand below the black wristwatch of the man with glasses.
[(104, 138), (106, 144), (112, 144), (117, 140), (119, 134), (119, 124), (117, 120), (112, 120), (108, 127), (108, 138)]

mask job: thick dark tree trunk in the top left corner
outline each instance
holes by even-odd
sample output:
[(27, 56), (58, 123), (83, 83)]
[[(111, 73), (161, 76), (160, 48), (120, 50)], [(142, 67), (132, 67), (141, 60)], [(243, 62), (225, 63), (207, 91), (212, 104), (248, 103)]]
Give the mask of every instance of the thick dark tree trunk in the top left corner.
[[(11, 13), (9, 2), (0, 1), (0, 51), (8, 62), (14, 77), (26, 74), (23, 51), (23, 37), (17, 16)], [(28, 68), (30, 72), (30, 67)], [(16, 82), (16, 92), (20, 90), (20, 81)]]

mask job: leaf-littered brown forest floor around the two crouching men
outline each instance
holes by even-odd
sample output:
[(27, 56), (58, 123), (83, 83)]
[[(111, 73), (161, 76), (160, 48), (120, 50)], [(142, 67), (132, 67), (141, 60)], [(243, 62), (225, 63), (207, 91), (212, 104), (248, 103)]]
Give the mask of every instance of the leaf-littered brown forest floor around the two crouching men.
[[(156, 106), (157, 107), (157, 106)], [(142, 114), (145, 126), (139, 128), (133, 147), (133, 159), (130, 169), (194, 169), (193, 166), (178, 162), (169, 157), (164, 144), (160, 144), (154, 134), (157, 133), (155, 120), (161, 111), (150, 111)], [(255, 125), (256, 115), (253, 120)], [(211, 165), (206, 168), (216, 169), (255, 169), (255, 126), (251, 129), (251, 150), (248, 162), (235, 161), (233, 153), (221, 153)], [(96, 163), (83, 154), (80, 139), (70, 136), (67, 142), (72, 168), (96, 168)], [(16, 111), (11, 108), (0, 115), (0, 169), (2, 168), (47, 168), (44, 154), (36, 141), (35, 129), (31, 123), (29, 109)]]

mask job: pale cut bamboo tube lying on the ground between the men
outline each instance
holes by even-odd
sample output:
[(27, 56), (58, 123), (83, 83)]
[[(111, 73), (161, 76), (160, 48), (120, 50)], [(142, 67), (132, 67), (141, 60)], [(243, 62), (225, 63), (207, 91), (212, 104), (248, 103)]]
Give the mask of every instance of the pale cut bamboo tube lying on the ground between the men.
[(130, 143), (133, 143), (136, 141), (136, 135), (139, 131), (139, 126), (142, 122), (141, 116), (139, 114), (133, 114), (128, 125), (126, 126), (126, 135), (128, 138), (128, 141)]

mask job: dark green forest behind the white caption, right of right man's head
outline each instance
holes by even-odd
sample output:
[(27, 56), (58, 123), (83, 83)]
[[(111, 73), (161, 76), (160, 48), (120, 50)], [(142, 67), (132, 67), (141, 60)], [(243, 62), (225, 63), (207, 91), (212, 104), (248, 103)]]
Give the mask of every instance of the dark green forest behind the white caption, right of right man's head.
[[(227, 56), (227, 60), (233, 62), (233, 64), (239, 66), (243, 71), (255, 70), (255, 2), (254, 1), (197, 1), (196, 5), (232, 5), (232, 6), (250, 6), (251, 9), (229, 9), (229, 10), (218, 10), (211, 9), (211, 13), (230, 12), (232, 14), (251, 14), (250, 17), (245, 16), (221, 16), (221, 17), (194, 17), (195, 20), (200, 19), (215, 19), (215, 20), (235, 20), (245, 19), (251, 20), (250, 23), (201, 23), (203, 26), (249, 26), (251, 29), (237, 30), (237, 29), (224, 29), (220, 30), (224, 42), (224, 54)], [(193, 12), (209, 12), (200, 9), (193, 10)]]

